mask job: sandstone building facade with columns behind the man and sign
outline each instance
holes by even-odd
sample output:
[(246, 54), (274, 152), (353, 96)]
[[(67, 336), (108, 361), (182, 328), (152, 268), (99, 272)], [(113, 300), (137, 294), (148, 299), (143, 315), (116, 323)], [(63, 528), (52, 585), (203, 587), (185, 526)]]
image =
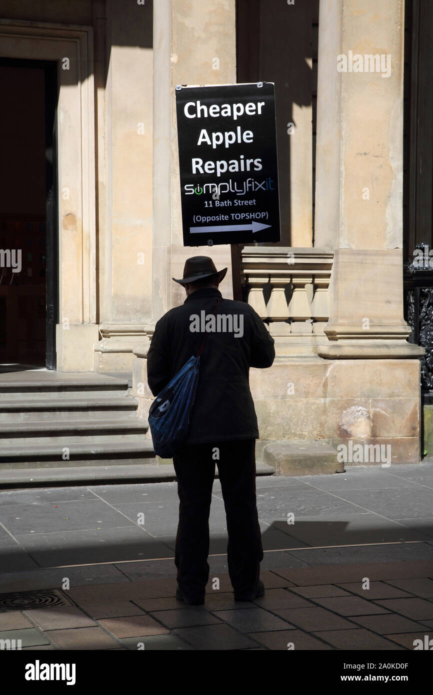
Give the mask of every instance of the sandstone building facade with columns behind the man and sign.
[[(37, 152), (17, 170), (20, 195), (2, 184), (0, 218), (15, 245), (24, 249), (24, 224), (46, 231), (49, 293), (37, 347), (26, 347), (24, 326), (9, 351), (6, 335), (2, 361), (35, 363), (51, 345), (48, 366), (61, 373), (132, 373), (145, 418), (149, 339), (183, 302), (172, 277), (185, 259), (228, 265), (221, 291), (233, 296), (229, 246), (183, 247), (174, 86), (272, 81), (281, 243), (245, 245), (233, 258), (276, 343), (272, 368), (250, 375), (259, 456), (281, 473), (304, 466), (302, 442), (319, 446), (310, 472), (335, 471), (341, 445), (362, 450), (348, 463), (386, 464), (370, 445), (391, 446), (388, 462), (420, 461), (424, 350), (407, 341), (403, 318), (403, 251), (417, 240), (404, 229), (405, 147), (417, 137), (405, 37), (418, 17), (422, 43), (419, 18), (431, 13), (422, 0), (409, 9), (404, 0), (0, 0), (12, 118), (25, 113), (33, 133), (44, 101), (45, 147), (54, 133), (54, 174), (33, 207)], [(34, 91), (21, 105), (19, 84)]]

